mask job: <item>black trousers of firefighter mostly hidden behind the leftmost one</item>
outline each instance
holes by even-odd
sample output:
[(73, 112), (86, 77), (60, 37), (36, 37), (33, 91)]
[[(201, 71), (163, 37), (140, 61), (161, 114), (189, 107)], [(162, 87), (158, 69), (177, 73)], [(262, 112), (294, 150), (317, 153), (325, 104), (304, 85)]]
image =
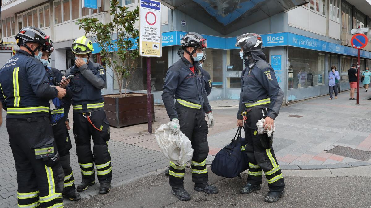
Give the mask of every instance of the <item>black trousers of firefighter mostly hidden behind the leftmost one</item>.
[(72, 168), (70, 166), (69, 150), (72, 148), (71, 139), (66, 128), (65, 120), (61, 119), (52, 126), (55, 142), (60, 155), (60, 164), (65, 173), (63, 195), (75, 192), (75, 179), (73, 178)]

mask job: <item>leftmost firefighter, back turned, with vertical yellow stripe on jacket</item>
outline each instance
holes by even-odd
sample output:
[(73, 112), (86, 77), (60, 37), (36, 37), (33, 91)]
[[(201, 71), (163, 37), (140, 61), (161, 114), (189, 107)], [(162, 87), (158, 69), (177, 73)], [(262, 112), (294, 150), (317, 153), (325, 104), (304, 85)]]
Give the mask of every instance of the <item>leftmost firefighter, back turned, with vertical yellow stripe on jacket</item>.
[(20, 50), (0, 70), (0, 101), (17, 170), (19, 207), (63, 207), (64, 173), (49, 120), (49, 100), (66, 90), (51, 87), (41, 62), (49, 36), (24, 27), (15, 36)]

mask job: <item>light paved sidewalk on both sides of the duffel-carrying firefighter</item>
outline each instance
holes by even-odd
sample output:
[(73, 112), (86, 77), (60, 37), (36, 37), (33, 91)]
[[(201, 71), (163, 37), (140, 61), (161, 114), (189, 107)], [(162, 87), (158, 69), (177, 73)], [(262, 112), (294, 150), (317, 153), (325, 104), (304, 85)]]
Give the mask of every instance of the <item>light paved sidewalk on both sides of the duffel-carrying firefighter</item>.
[[(275, 120), (273, 137), (273, 149), (282, 168), (324, 169), (370, 164), (371, 160), (359, 161), (326, 151), (335, 145), (371, 151), (371, 100), (368, 100), (371, 93), (361, 88), (359, 97), (359, 105), (349, 100), (347, 91), (339, 94), (338, 99), (324, 96), (282, 107)], [(213, 112), (216, 124), (208, 137), (209, 164), (237, 131), (237, 109)]]

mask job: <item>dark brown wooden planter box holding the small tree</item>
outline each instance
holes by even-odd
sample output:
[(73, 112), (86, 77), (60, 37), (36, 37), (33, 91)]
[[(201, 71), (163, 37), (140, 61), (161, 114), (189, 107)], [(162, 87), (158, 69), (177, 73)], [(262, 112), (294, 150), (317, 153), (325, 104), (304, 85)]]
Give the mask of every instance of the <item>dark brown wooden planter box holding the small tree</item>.
[[(127, 93), (127, 97), (103, 95), (104, 112), (109, 125), (124, 127), (128, 125), (147, 123), (147, 94)], [(155, 120), (155, 111), (152, 98), (152, 121)]]

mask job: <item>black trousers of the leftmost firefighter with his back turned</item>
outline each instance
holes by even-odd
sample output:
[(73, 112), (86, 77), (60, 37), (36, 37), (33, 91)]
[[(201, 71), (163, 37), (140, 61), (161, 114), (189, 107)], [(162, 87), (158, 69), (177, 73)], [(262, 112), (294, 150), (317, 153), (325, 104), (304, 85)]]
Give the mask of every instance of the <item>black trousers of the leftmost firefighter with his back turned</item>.
[(47, 116), (6, 119), (18, 207), (63, 207), (64, 173)]

